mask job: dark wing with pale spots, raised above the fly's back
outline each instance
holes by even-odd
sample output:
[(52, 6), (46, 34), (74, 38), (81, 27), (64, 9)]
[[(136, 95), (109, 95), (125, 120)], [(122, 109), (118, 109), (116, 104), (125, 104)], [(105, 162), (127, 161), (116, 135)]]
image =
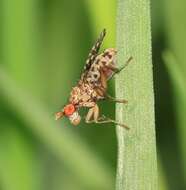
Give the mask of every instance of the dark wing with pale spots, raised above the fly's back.
[(88, 58), (86, 60), (86, 64), (84, 66), (84, 70), (83, 70), (83, 73), (81, 75), (81, 80), (83, 81), (84, 78), (86, 77), (86, 74), (87, 72), (89, 71), (91, 65), (94, 63), (97, 55), (98, 55), (98, 52), (99, 52), (99, 49), (100, 49), (100, 46), (103, 42), (103, 39), (106, 35), (106, 29), (103, 29), (103, 31), (101, 32), (99, 38), (97, 39), (96, 43), (94, 44), (94, 46), (92, 47), (89, 55), (88, 55)]

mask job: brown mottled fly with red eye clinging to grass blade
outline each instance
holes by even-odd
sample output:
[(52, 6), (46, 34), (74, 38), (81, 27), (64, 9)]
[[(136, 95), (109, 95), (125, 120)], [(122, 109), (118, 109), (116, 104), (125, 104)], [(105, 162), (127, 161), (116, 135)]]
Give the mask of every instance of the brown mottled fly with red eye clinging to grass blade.
[(123, 67), (117, 68), (115, 65), (116, 49), (108, 48), (99, 54), (99, 49), (105, 35), (106, 30), (104, 29), (88, 55), (79, 82), (72, 88), (68, 104), (55, 114), (56, 120), (66, 116), (73, 125), (78, 125), (81, 121), (79, 109), (87, 107), (89, 111), (85, 117), (86, 123), (114, 123), (129, 129), (126, 125), (113, 119), (107, 118), (104, 115), (100, 116), (97, 104), (100, 100), (109, 99), (118, 103), (127, 103), (126, 100), (116, 99), (108, 95), (107, 83), (132, 60), (132, 57), (130, 57)]

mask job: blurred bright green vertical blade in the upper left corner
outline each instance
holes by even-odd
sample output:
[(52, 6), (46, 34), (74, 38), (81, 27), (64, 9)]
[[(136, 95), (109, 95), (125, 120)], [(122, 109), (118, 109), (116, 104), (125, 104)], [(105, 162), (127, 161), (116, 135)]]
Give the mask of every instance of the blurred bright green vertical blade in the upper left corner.
[(2, 0), (3, 62), (14, 79), (32, 93), (40, 87), (37, 7), (36, 0)]

